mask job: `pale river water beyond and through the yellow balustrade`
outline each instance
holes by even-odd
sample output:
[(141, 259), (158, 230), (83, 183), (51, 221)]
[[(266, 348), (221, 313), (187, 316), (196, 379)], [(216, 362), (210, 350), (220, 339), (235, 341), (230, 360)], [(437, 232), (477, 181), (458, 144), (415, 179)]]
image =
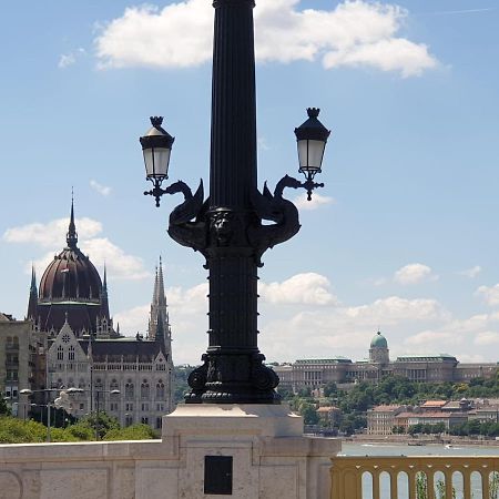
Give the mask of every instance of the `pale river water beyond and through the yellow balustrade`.
[[(498, 447), (486, 446), (445, 446), (445, 445), (431, 445), (431, 446), (407, 446), (407, 445), (379, 445), (379, 444), (352, 444), (343, 442), (342, 451), (339, 456), (499, 456)], [(441, 475), (441, 473), (440, 473)], [(444, 481), (444, 475), (436, 473), (436, 481)], [(452, 486), (456, 492), (456, 499), (462, 498), (462, 477), (459, 473), (455, 473), (452, 479)], [(471, 476), (472, 498), (481, 499), (481, 485), (478, 473)], [(380, 497), (381, 499), (391, 499), (389, 490), (389, 478), (387, 473), (381, 473), (380, 477)], [(437, 498), (445, 498), (436, 493)], [(363, 499), (373, 498), (373, 481), (368, 473), (363, 478)], [(408, 498), (408, 485), (407, 477), (403, 473), (398, 477), (398, 498)], [(347, 499), (347, 498), (342, 498)], [(445, 498), (450, 499), (450, 498)], [(499, 499), (499, 492), (496, 496), (490, 496), (486, 499)]]

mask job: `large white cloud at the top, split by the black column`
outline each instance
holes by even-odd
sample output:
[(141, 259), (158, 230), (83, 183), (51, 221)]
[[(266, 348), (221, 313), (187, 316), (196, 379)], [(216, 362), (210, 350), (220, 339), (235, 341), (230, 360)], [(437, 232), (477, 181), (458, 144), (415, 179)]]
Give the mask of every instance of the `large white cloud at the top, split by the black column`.
[[(261, 0), (254, 17), (259, 62), (322, 61), (325, 69), (371, 67), (404, 78), (437, 65), (425, 44), (398, 35), (408, 12), (394, 4), (354, 0), (298, 10), (298, 0)], [(200, 65), (212, 55), (212, 30), (213, 9), (204, 0), (131, 7), (95, 39), (99, 65)]]

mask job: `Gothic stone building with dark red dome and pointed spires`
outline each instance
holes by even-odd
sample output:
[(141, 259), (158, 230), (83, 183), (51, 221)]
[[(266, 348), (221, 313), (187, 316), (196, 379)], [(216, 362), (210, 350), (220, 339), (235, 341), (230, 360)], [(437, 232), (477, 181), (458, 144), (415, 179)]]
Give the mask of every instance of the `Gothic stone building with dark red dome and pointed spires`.
[(105, 410), (122, 425), (161, 427), (173, 410), (171, 327), (163, 268), (156, 268), (145, 337), (121, 336), (109, 313), (108, 279), (101, 281), (90, 258), (78, 247), (74, 210), (67, 246), (49, 264), (37, 289), (31, 278), (28, 316), (44, 338), (45, 377), (33, 389), (77, 387), (73, 415)]

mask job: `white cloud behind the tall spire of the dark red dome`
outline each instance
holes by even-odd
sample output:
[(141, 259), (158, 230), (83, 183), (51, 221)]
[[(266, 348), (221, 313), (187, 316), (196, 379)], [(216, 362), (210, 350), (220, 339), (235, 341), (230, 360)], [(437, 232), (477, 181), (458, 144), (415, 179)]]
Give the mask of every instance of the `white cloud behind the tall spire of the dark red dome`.
[[(79, 246), (83, 253), (89, 254), (92, 263), (98, 267), (108, 267), (110, 277), (123, 279), (141, 279), (151, 274), (144, 269), (142, 258), (128, 255), (122, 248), (106, 237), (95, 237), (102, 233), (102, 224), (92, 218), (77, 218), (77, 230), (80, 235)], [(68, 218), (59, 218), (45, 224), (33, 223), (19, 227), (8, 228), (3, 233), (3, 241), (8, 243), (22, 243), (39, 245), (42, 248), (52, 248), (51, 252), (35, 258), (35, 268), (44, 269), (55, 253), (64, 245), (68, 232)], [(31, 262), (26, 264), (26, 271), (31, 268)]]

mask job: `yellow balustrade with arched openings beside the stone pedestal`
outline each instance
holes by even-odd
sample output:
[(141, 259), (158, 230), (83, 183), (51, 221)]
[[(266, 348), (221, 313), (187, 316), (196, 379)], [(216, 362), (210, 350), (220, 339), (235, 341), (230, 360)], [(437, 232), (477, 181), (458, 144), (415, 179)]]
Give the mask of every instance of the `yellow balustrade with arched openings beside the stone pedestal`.
[(332, 458), (330, 499), (499, 499), (499, 456)]

